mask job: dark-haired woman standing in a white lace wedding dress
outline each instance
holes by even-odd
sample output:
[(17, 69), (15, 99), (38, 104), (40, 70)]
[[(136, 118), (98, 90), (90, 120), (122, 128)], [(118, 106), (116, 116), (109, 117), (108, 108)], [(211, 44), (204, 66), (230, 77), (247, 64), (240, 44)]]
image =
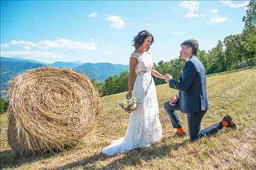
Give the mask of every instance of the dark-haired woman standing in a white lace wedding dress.
[[(164, 76), (154, 69), (151, 53), (148, 51), (154, 43), (154, 37), (148, 31), (140, 31), (133, 42), (135, 51), (130, 57), (129, 92), (126, 97), (138, 99), (138, 107), (131, 112), (124, 138), (114, 140), (111, 145), (102, 149), (102, 153), (106, 155), (147, 147), (162, 137), (156, 87), (152, 75), (161, 79), (164, 79)], [(137, 74), (137, 78), (132, 91), (134, 73)]]

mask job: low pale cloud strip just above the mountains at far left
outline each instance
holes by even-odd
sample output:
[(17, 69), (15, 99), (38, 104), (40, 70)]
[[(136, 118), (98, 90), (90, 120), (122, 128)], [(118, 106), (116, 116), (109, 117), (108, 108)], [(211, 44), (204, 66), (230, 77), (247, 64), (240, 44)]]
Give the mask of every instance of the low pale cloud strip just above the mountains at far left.
[(52, 53), (52, 52), (42, 52), (42, 51), (8, 51), (2, 52), (1, 56), (4, 57), (22, 57), (22, 58), (29, 58), (29, 59), (37, 59), (37, 60), (52, 60), (52, 59), (61, 59), (64, 55), (59, 53)]

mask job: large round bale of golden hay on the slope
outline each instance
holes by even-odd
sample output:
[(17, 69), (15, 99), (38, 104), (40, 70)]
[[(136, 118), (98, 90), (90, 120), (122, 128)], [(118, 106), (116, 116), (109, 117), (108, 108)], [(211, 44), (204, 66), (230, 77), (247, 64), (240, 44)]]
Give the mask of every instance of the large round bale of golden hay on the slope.
[(102, 108), (91, 81), (71, 69), (26, 71), (10, 82), (7, 96), (8, 143), (20, 155), (76, 145)]

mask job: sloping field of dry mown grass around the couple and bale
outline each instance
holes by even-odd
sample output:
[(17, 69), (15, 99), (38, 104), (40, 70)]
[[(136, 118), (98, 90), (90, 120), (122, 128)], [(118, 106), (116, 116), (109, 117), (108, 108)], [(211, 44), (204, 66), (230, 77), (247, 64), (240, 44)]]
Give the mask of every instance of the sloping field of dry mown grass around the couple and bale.
[[(243, 69), (207, 76), (210, 109), (202, 127), (220, 121), (227, 113), (237, 129), (223, 129), (218, 134), (189, 143), (188, 136), (173, 138), (174, 130), (163, 103), (176, 91), (167, 84), (158, 85), (157, 97), (163, 138), (149, 148), (106, 157), (100, 150), (113, 139), (125, 135), (129, 114), (118, 103), (125, 93), (103, 98), (104, 110), (92, 132), (81, 145), (60, 153), (44, 153), (17, 158), (7, 142), (8, 119), (1, 115), (1, 169), (256, 169), (256, 69)], [(188, 132), (186, 114), (180, 119)]]

